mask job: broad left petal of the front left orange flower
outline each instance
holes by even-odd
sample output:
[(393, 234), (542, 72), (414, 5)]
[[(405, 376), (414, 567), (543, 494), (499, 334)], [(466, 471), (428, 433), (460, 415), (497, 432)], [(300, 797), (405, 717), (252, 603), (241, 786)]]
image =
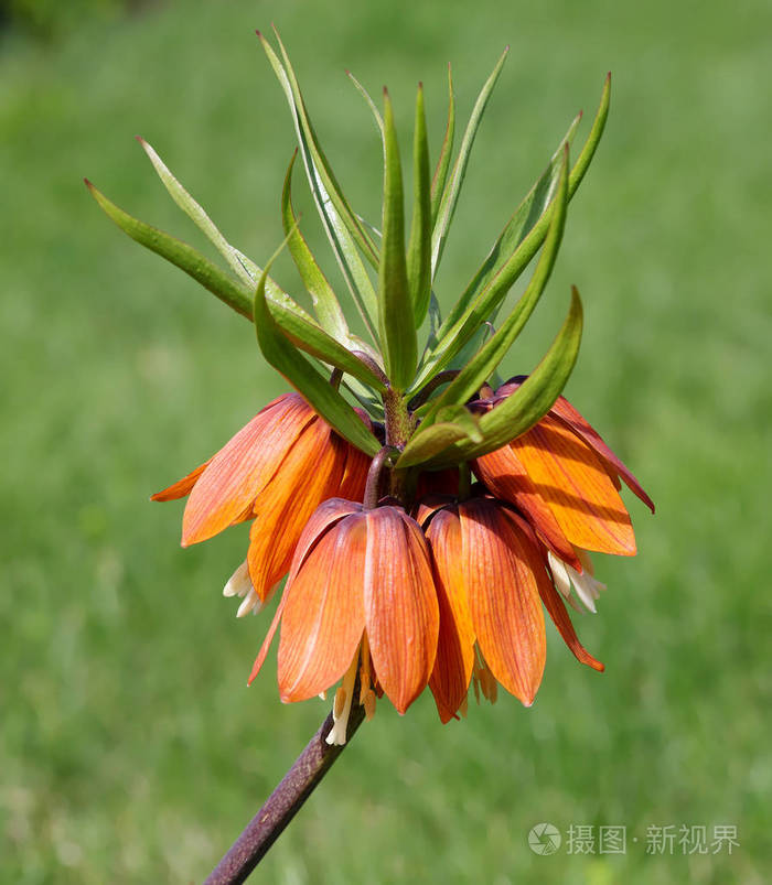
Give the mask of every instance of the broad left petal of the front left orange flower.
[(351, 666), (365, 627), (367, 525), (354, 514), (331, 528), (285, 590), (279, 641), (282, 701), (304, 701)]

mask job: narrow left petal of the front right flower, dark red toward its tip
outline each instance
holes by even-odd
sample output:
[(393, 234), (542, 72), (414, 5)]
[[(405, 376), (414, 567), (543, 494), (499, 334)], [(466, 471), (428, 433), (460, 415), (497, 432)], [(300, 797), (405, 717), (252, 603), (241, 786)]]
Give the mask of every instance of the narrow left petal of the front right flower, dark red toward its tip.
[(435, 587), (440, 609), (437, 660), (429, 679), (437, 710), (448, 722), (461, 706), (474, 666), (474, 630), (461, 568), (461, 522), (455, 508), (439, 510), (429, 524)]

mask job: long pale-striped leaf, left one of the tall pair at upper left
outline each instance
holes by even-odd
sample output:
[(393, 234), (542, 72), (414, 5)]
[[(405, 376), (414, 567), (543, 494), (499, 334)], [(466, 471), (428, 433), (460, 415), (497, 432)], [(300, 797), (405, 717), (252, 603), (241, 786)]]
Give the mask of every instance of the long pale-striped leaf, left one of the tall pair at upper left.
[(333, 252), (335, 253), (335, 259), (337, 260), (341, 272), (343, 273), (343, 279), (349, 287), (349, 291), (362, 315), (365, 326), (373, 336), (373, 339), (376, 341), (375, 317), (378, 313), (378, 306), (375, 289), (360, 258), (354, 239), (349, 233), (344, 219), (337, 212), (335, 202), (328, 193), (323, 176), (314, 162), (312, 144), (310, 143), (301, 119), (301, 108), (296, 104), (292, 84), (290, 83), (287, 72), (274, 50), (259, 32), (258, 36), (260, 37), (262, 48), (287, 97), (311, 194), (313, 195), (317, 211), (319, 212), (322, 225), (333, 248)]

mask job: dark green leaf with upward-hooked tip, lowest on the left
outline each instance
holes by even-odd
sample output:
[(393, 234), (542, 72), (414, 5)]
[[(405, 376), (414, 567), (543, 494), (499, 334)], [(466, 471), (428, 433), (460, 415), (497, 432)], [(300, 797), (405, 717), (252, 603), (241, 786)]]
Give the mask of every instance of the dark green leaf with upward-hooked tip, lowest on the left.
[(375, 455), (380, 443), (337, 390), (292, 347), (277, 326), (266, 299), (267, 272), (275, 259), (276, 255), (260, 274), (255, 292), (255, 330), (262, 355), (341, 436), (365, 454)]

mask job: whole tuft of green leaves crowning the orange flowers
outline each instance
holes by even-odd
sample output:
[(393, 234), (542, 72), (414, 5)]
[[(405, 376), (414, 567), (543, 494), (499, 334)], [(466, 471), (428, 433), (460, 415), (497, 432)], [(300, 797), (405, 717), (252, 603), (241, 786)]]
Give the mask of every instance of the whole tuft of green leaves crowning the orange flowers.
[[(475, 134), (503, 67), (506, 50), (482, 87), (460, 147), (454, 152), (455, 106), (448, 74), (448, 123), (430, 164), (423, 91), (418, 87), (412, 138), (409, 231), (397, 132), (384, 89), (383, 114), (353, 77), (373, 112), (383, 141), (383, 215), (362, 220), (350, 205), (311, 123), (292, 65), (278, 34), (278, 54), (258, 33), (287, 96), (298, 140), (281, 193), (287, 248), (311, 295), (313, 313), (301, 307), (265, 267), (232, 246), (204, 209), (142, 139), (142, 148), (175, 203), (221, 252), (222, 269), (185, 242), (140, 222), (87, 182), (107, 215), (130, 237), (184, 270), (228, 306), (254, 322), (265, 358), (296, 387), (340, 434), (368, 455), (380, 447), (352, 402), (374, 418), (390, 401), (408, 417), (394, 466), (439, 468), (500, 449), (528, 430), (553, 406), (576, 361), (582, 311), (576, 289), (568, 315), (538, 366), (496, 409), (476, 415), (465, 408), (496, 371), (522, 332), (547, 284), (562, 238), (568, 203), (581, 183), (601, 138), (609, 110), (607, 78), (600, 106), (577, 159), (569, 160), (581, 115), (542, 176), (505, 224), (487, 257), (446, 317), (433, 292)], [(298, 154), (344, 283), (345, 299), (360, 312), (368, 339), (352, 334), (339, 296), (322, 272), (294, 215), (292, 173)], [(513, 310), (500, 316), (507, 292), (542, 250), (533, 276)], [(491, 324), (495, 332), (491, 334)], [(419, 338), (425, 333), (425, 338)], [(343, 390), (330, 384), (330, 370)], [(347, 391), (347, 396), (346, 396)]]

